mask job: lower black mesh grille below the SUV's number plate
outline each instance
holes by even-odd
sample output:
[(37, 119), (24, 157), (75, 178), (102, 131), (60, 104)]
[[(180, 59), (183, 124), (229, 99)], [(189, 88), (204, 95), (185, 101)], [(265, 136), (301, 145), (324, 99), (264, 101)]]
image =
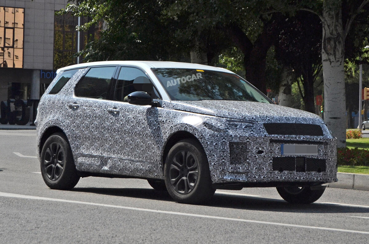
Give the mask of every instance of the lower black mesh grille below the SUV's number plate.
[(276, 171), (325, 172), (325, 159), (306, 157), (273, 157), (272, 168)]

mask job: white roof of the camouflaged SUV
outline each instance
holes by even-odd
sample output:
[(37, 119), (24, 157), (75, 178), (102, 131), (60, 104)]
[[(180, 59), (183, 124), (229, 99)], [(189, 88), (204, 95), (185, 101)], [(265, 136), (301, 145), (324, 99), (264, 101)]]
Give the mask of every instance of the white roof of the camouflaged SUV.
[(135, 65), (145, 69), (151, 68), (183, 68), (183, 69), (204, 69), (204, 70), (215, 70), (221, 72), (233, 73), (227, 69), (218, 68), (208, 65), (199, 65), (197, 63), (182, 63), (182, 62), (169, 62), (169, 61), (100, 61), (90, 63), (80, 63), (77, 65), (70, 65), (60, 68), (56, 73), (67, 69), (76, 69), (83, 67), (99, 66), (99, 65)]

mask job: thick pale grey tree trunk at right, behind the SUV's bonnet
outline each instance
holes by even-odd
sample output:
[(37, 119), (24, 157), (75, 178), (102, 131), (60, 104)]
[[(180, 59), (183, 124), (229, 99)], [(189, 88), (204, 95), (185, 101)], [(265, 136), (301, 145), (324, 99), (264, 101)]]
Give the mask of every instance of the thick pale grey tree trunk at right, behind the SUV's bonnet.
[(324, 77), (324, 121), (337, 137), (337, 147), (346, 146), (345, 69), (342, 0), (324, 0), (322, 61)]

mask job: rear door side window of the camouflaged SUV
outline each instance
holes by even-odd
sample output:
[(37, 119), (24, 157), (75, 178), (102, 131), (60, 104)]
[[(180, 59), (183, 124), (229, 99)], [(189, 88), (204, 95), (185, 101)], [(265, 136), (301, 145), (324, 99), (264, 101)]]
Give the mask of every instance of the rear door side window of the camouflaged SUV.
[(77, 97), (106, 99), (114, 71), (115, 67), (91, 68), (77, 83), (75, 95)]

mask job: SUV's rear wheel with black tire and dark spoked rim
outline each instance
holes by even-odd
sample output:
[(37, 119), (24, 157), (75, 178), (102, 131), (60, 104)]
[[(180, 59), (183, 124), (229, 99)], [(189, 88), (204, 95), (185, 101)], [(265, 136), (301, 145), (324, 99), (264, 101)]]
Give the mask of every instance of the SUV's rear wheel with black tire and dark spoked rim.
[(79, 181), (72, 150), (62, 133), (54, 133), (41, 151), (41, 174), (51, 189), (70, 190)]

